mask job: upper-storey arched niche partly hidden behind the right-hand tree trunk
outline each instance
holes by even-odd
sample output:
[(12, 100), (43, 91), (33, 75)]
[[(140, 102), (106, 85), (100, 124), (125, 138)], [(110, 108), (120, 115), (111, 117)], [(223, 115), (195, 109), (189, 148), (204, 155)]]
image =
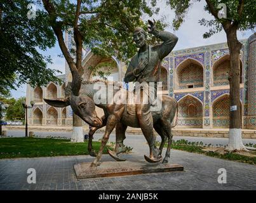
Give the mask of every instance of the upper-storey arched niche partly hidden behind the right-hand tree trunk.
[[(213, 86), (229, 85), (230, 55), (224, 55), (213, 63)], [(243, 82), (243, 63), (240, 60), (240, 83)]]

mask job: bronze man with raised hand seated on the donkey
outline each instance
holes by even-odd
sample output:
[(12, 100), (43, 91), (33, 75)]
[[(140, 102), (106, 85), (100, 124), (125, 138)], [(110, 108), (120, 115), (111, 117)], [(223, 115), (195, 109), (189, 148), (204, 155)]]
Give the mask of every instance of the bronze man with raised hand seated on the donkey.
[[(178, 38), (171, 34), (170, 32), (159, 31), (156, 30), (155, 21), (152, 22), (148, 20), (149, 28), (148, 32), (153, 34), (156, 37), (159, 37), (163, 43), (158, 44), (156, 46), (149, 46), (146, 43), (147, 34), (142, 27), (137, 27), (133, 33), (133, 41), (139, 51), (136, 55), (131, 58), (131, 62), (128, 66), (128, 69), (125, 74), (125, 82), (137, 81), (137, 82), (158, 82), (160, 81), (161, 74), (161, 60), (167, 56), (175, 44), (178, 41)], [(148, 95), (157, 95), (157, 86), (154, 85), (154, 93)], [(145, 100), (143, 96), (143, 89), (140, 90), (140, 101)], [(150, 98), (148, 101), (152, 101)], [(150, 157), (153, 159), (158, 159), (159, 150), (154, 147), (154, 143), (156, 137), (154, 136), (153, 131), (153, 119), (151, 111), (152, 102), (148, 102), (146, 104), (138, 103), (135, 106), (136, 114), (138, 117), (138, 122), (140, 124), (140, 128), (142, 129), (142, 133), (144, 134), (147, 143), (150, 147)]]

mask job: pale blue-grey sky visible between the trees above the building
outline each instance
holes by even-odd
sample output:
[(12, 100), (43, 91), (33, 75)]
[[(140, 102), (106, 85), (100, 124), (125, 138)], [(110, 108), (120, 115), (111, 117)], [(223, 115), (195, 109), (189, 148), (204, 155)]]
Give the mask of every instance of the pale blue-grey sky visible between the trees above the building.
[[(199, 25), (198, 20), (201, 18), (206, 18), (206, 20), (213, 19), (213, 16), (203, 10), (205, 6), (205, 1), (201, 1), (200, 3), (195, 3), (192, 5), (191, 10), (187, 13), (185, 17), (185, 22), (182, 24), (179, 30), (173, 32), (172, 28), (172, 20), (174, 18), (174, 12), (170, 9), (169, 6), (166, 6), (164, 0), (158, 1), (158, 5), (160, 8), (159, 15), (153, 16), (155, 20), (161, 18), (161, 16), (166, 16), (166, 22), (168, 23), (168, 27), (166, 30), (172, 32), (177, 37), (179, 37), (179, 41), (176, 44), (173, 50), (192, 48), (197, 46), (205, 46), (208, 44), (217, 44), (226, 42), (226, 34), (222, 30), (222, 32), (218, 34), (214, 34), (212, 37), (208, 39), (203, 39), (203, 34), (208, 31), (207, 27)], [(144, 16), (143, 20), (147, 20), (147, 17)], [(245, 32), (238, 32), (238, 39), (247, 39), (253, 34), (252, 30), (248, 30)], [(58, 57), (58, 55), (62, 54), (58, 43), (55, 44), (55, 47), (48, 49), (47, 51), (41, 51), (44, 55), (50, 55), (52, 58), (52, 64), (48, 65), (50, 69), (57, 69), (65, 74), (65, 59)], [(26, 84), (17, 88), (17, 90), (11, 91), (11, 96), (14, 98), (19, 98), (20, 96), (25, 96), (26, 94)]]

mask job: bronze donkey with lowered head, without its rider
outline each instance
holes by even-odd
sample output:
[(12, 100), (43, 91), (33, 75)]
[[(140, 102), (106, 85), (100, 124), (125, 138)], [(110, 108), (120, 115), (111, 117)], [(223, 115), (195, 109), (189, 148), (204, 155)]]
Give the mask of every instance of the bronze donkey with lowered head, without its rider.
[[(71, 105), (73, 112), (81, 117), (84, 122), (92, 126), (90, 133), (89, 133), (89, 143), (88, 143), (88, 151), (90, 155), (96, 156), (95, 160), (91, 163), (91, 167), (97, 167), (98, 162), (102, 156), (102, 152), (104, 147), (109, 140), (109, 135), (116, 127), (116, 147), (114, 152), (108, 150), (111, 157), (116, 160), (124, 160), (118, 157), (118, 154), (124, 152), (124, 145), (123, 140), (125, 140), (125, 131), (127, 126), (133, 128), (140, 128), (137, 115), (133, 114), (135, 109), (133, 108), (133, 104), (123, 104), (123, 103), (96, 103), (93, 100), (95, 98), (95, 94), (97, 94), (98, 89), (95, 89), (95, 84), (98, 82), (104, 82), (106, 86), (115, 86), (113, 88), (112, 94), (106, 93), (105, 94), (105, 101), (109, 101), (109, 95), (115, 96), (116, 94), (119, 97), (125, 97), (128, 94), (126, 89), (123, 89), (123, 86), (118, 84), (117, 82), (108, 82), (108, 81), (93, 81), (81, 82), (80, 77), (78, 74), (74, 74), (77, 78), (73, 78), (72, 84), (68, 85), (65, 89), (65, 98), (57, 98), (57, 99), (44, 99), (46, 103), (53, 107), (67, 107)], [(77, 81), (79, 80), (79, 81)], [(74, 82), (76, 81), (76, 82)], [(77, 84), (75, 84), (77, 83)], [(73, 94), (74, 87), (80, 85), (81, 90), (79, 96), (75, 96)], [(69, 88), (71, 87), (71, 88)], [(79, 88), (80, 89), (80, 88)], [(76, 89), (77, 92), (77, 89)], [(149, 146), (150, 148), (150, 156), (147, 157), (144, 155), (145, 160), (148, 162), (159, 162), (162, 160), (161, 153), (163, 150), (163, 146), (165, 144), (166, 138), (168, 138), (168, 147), (166, 150), (165, 158), (163, 159), (163, 163), (168, 162), (170, 158), (170, 148), (172, 145), (172, 121), (175, 116), (175, 112), (177, 110), (177, 101), (170, 96), (162, 95), (161, 98), (161, 110), (152, 112), (152, 117), (154, 120), (154, 129), (156, 132), (161, 136), (161, 145), (159, 149), (156, 146)], [(102, 118), (97, 117), (95, 112), (95, 105), (100, 107), (104, 110), (104, 116)], [(98, 154), (94, 154), (92, 151), (92, 136), (97, 129), (106, 126), (105, 133), (102, 138), (102, 145)], [(155, 136), (154, 136), (155, 141)]]

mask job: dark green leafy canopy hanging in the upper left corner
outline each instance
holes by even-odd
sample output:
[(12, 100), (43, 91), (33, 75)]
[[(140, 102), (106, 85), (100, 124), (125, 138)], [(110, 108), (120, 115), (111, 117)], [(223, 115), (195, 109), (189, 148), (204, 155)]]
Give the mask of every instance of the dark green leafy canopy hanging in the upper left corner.
[(36, 12), (36, 19), (27, 17), (30, 0), (0, 1), (0, 94), (29, 81), (31, 86), (43, 86), (55, 77), (57, 71), (47, 69), (50, 56), (40, 50), (55, 44), (53, 31), (48, 27), (48, 15)]

